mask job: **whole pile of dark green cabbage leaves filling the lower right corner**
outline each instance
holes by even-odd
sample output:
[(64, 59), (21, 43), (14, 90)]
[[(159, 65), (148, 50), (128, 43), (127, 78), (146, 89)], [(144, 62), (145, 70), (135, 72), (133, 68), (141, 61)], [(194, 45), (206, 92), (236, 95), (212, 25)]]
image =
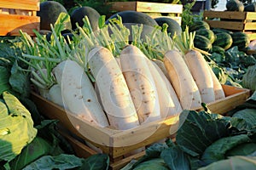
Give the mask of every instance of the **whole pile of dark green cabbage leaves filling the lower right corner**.
[[(230, 113), (220, 116), (207, 111), (183, 111), (187, 115), (176, 141), (166, 140), (146, 150), (127, 169), (255, 169), (255, 94)], [(182, 116), (181, 115), (181, 116)]]

